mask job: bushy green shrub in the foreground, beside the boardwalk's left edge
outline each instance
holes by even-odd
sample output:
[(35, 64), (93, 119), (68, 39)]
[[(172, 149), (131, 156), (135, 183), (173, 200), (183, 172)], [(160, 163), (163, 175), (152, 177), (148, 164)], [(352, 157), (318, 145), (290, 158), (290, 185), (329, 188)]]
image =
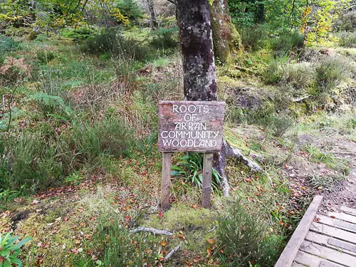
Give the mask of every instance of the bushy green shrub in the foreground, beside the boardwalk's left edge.
[[(278, 258), (282, 237), (268, 234), (268, 222), (256, 206), (239, 199), (232, 201), (219, 219), (217, 238), (224, 266), (248, 266), (260, 263), (273, 266)], [(221, 253), (221, 250), (224, 253)]]

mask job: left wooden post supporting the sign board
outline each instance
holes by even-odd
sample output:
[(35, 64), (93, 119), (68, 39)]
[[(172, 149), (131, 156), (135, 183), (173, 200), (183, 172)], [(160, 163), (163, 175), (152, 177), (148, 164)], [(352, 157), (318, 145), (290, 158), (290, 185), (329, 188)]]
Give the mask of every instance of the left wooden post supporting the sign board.
[(162, 189), (161, 189), (161, 208), (167, 209), (171, 206), (169, 201), (171, 189), (171, 164), (172, 152), (163, 152), (162, 155)]

